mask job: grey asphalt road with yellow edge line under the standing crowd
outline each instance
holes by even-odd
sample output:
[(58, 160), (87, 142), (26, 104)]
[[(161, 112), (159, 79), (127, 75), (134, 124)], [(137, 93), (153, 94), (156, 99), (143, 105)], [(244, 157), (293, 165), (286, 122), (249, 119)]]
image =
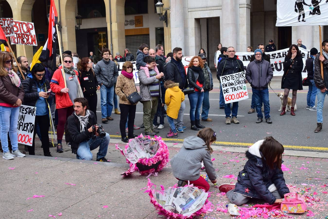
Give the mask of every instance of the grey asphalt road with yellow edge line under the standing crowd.
[[(276, 93), (283, 92), (280, 89), (281, 77), (274, 77), (271, 86)], [(317, 111), (310, 111), (306, 109), (306, 96), (307, 87), (304, 90), (298, 91), (297, 93), (297, 111), (295, 111), (296, 116), (291, 116), (290, 112), (286, 115), (280, 116), (278, 109), (280, 108), (280, 99), (276, 94), (270, 89), (269, 99), (270, 99), (270, 116), (273, 121), (272, 124), (267, 124), (265, 121), (257, 124), (255, 123), (257, 117), (256, 113), (248, 114), (248, 110), (251, 105), (251, 89), (249, 84), (248, 91), (250, 93), (250, 98), (239, 101), (238, 116), (240, 124), (225, 124), (225, 114), (224, 109), (219, 109), (219, 84), (215, 80), (214, 90), (210, 92), (210, 111), (209, 118), (213, 119), (213, 122), (201, 122), (201, 124), (206, 127), (211, 127), (217, 133), (217, 144), (225, 146), (240, 146), (247, 147), (251, 143), (265, 138), (266, 136), (273, 136), (277, 141), (282, 143), (288, 150), (304, 150), (304, 151), (325, 151), (328, 152), (328, 145), (326, 141), (327, 137), (327, 125), (324, 123), (323, 131), (320, 133), (314, 133), (317, 122)], [(306, 89), (305, 89), (306, 88)], [(292, 94), (289, 94), (292, 97)], [(324, 104), (323, 117), (324, 120), (328, 115), (327, 103)], [(178, 138), (172, 139), (176, 142), (181, 142), (184, 138), (192, 135), (196, 135), (197, 131), (190, 129), (190, 118), (189, 110), (190, 104), (188, 97), (185, 99), (186, 110), (184, 112), (184, 125), (187, 129), (184, 133), (178, 133)], [(316, 103), (317, 105), (317, 103)], [(166, 106), (165, 106), (166, 107)], [(140, 126), (142, 124), (143, 115), (143, 105), (141, 103), (137, 104), (136, 107), (136, 117), (134, 124)], [(98, 109), (97, 117), (101, 118), (100, 110), (100, 93), (98, 93)], [(120, 115), (112, 113), (113, 121), (108, 121), (107, 123), (102, 123), (106, 132), (110, 135), (120, 136), (119, 130), (119, 120)], [(159, 119), (158, 119), (159, 121)], [(100, 119), (99, 119), (100, 122)], [(167, 123), (167, 118), (164, 120), (164, 128), (160, 129), (159, 136), (166, 138), (166, 134), (169, 131), (169, 125)], [(134, 134), (144, 133), (143, 129), (135, 130)]]

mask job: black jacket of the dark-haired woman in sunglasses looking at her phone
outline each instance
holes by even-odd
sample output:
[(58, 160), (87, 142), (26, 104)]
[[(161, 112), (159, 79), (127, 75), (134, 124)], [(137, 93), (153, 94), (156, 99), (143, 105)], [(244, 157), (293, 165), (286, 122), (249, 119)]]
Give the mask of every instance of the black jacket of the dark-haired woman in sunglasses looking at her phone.
[[(35, 80), (35, 77), (32, 77), (32, 74), (29, 74), (28, 77), (22, 82), (24, 88), (24, 105), (35, 106), (36, 101), (40, 98), (38, 91), (38, 82)], [(50, 82), (46, 78), (40, 80), (40, 85), (44, 92), (50, 90)], [(46, 101), (46, 99), (45, 99)], [(47, 105), (47, 104), (46, 104)]]

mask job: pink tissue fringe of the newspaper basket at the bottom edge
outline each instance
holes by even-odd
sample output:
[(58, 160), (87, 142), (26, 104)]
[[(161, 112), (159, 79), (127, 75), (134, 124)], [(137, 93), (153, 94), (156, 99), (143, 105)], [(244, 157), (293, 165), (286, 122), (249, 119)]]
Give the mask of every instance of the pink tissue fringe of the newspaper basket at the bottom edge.
[[(153, 188), (153, 186), (154, 186), (154, 188)], [(193, 184), (192, 185), (185, 185), (185, 186), (193, 186)], [(154, 205), (155, 209), (158, 210), (158, 214), (165, 215), (166, 218), (189, 219), (189, 218), (194, 218), (194, 217), (196, 217), (200, 214), (206, 213), (207, 211), (213, 211), (213, 209), (211, 209), (212, 203), (208, 200), (208, 198), (211, 196), (210, 194), (208, 194), (207, 199), (206, 199), (205, 204), (203, 205), (203, 207), (200, 208), (198, 211), (196, 211), (195, 213), (193, 213), (190, 216), (183, 216), (182, 214), (177, 214), (177, 213), (174, 213), (172, 211), (168, 211), (168, 210), (164, 209), (160, 204), (158, 204), (156, 199), (154, 199), (152, 189), (156, 189), (156, 185), (153, 184), (150, 181), (150, 179), (148, 179), (147, 187), (148, 187), (148, 189), (146, 191), (144, 191), (144, 193), (148, 193), (148, 195), (150, 196), (150, 202)], [(176, 186), (174, 186), (174, 187), (176, 188)], [(162, 189), (163, 188), (164, 187), (162, 187)]]

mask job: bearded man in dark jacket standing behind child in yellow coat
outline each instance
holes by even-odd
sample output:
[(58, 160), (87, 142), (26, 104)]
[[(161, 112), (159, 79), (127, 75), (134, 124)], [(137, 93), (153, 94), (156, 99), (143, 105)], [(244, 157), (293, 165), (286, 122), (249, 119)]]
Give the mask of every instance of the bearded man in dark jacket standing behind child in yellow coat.
[[(179, 83), (179, 88), (183, 90), (188, 86), (188, 81), (186, 77), (186, 71), (181, 62), (182, 49), (175, 47), (172, 52), (172, 59), (166, 64), (164, 68), (165, 80), (172, 80), (175, 83)], [(179, 109), (178, 118), (174, 120), (174, 124), (178, 132), (183, 132), (183, 129), (186, 129), (186, 126), (183, 126), (183, 113), (185, 108), (186, 104), (183, 101)]]

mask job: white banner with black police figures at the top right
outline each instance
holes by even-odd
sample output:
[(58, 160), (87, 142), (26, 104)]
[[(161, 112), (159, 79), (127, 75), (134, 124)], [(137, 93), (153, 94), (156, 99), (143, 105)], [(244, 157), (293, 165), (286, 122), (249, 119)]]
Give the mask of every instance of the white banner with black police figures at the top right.
[(277, 0), (276, 26), (328, 25), (326, 0)]

